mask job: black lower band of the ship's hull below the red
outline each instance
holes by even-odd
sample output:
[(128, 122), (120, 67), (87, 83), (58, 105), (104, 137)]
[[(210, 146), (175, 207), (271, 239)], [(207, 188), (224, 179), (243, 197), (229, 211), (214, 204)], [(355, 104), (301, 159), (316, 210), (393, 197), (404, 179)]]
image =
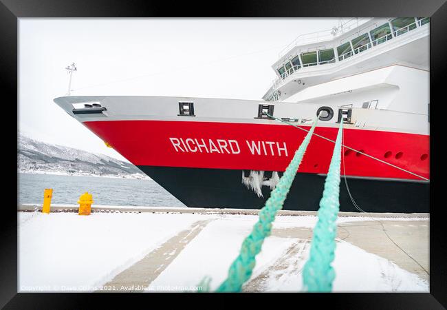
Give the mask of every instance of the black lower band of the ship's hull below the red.
[[(263, 197), (241, 183), (241, 171), (183, 167), (138, 166), (188, 207), (260, 209), (270, 196), (263, 186)], [(298, 173), (283, 209), (317, 211), (325, 182), (324, 175)], [(429, 183), (347, 178), (351, 196), (367, 212), (429, 212)], [(354, 207), (345, 179), (340, 183), (340, 211), (359, 211)]]

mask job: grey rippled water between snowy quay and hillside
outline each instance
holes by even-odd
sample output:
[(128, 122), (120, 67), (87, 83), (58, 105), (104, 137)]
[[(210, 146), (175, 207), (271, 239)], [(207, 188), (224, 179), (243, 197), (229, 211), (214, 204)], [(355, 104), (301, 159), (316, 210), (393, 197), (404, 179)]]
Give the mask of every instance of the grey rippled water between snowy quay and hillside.
[(153, 180), (52, 174), (17, 176), (19, 203), (43, 203), (43, 190), (52, 188), (52, 203), (77, 204), (79, 196), (89, 192), (94, 205), (186, 207)]

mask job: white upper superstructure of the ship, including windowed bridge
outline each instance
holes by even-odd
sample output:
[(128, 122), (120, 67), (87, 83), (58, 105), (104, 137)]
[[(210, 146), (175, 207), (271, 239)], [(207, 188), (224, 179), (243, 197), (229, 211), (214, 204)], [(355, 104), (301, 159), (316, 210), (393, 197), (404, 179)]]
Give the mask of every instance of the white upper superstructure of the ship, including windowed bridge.
[(427, 115), (429, 25), (428, 18), (371, 19), (332, 39), (334, 30), (318, 32), (272, 65), (277, 78), (263, 99)]

